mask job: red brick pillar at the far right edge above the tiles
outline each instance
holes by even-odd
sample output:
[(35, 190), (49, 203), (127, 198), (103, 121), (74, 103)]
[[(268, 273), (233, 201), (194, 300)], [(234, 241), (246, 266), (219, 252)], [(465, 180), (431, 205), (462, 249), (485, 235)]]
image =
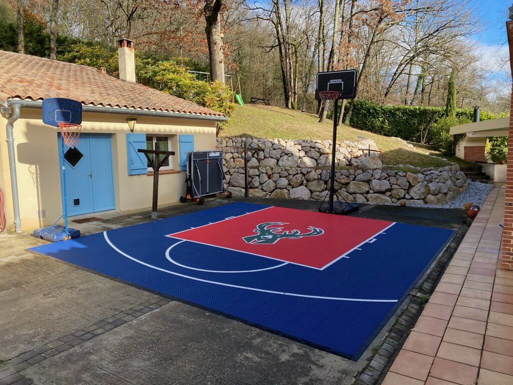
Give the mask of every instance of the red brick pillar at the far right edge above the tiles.
[(506, 204), (504, 206), (504, 232), (502, 238), (501, 267), (513, 270), (513, 88), (509, 110), (508, 164), (506, 169)]

